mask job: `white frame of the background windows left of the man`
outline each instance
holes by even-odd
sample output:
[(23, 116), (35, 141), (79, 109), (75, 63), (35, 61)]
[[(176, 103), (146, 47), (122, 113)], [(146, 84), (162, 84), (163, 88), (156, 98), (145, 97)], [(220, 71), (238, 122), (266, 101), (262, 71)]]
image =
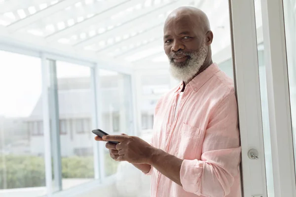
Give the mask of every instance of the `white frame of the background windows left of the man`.
[[(77, 64), (81, 66), (87, 66), (91, 69), (91, 92), (92, 92), (92, 101), (96, 107), (93, 107), (92, 111), (92, 127), (98, 128), (98, 122), (100, 121), (100, 110), (97, 108), (98, 102), (100, 100), (99, 93), (99, 70), (105, 69), (110, 71), (118, 72), (119, 74), (125, 74), (133, 77), (133, 70), (127, 66), (114, 66), (106, 64), (105, 62), (98, 62), (95, 59), (87, 59), (83, 56), (77, 55), (76, 57), (73, 54), (65, 54), (59, 52), (51, 52), (46, 51), (46, 49), (41, 50), (40, 48), (36, 48), (34, 46), (25, 44), (25, 43), (15, 43), (15, 42), (7, 42), (7, 40), (0, 40), (0, 50), (8, 51), (12, 53), (18, 53), (27, 56), (33, 56), (41, 59), (41, 79), (42, 79), (42, 116), (43, 116), (43, 134), (44, 134), (44, 164), (45, 164), (45, 183), (46, 183), (46, 197), (59, 197), (67, 195), (74, 195), (77, 193), (82, 194), (83, 191), (89, 191), (91, 189), (97, 188), (98, 183), (101, 186), (106, 184), (113, 184), (115, 181), (115, 177), (113, 175), (106, 177), (105, 176), (105, 168), (102, 163), (99, 161), (104, 161), (103, 154), (105, 149), (105, 145), (103, 143), (98, 143), (94, 140), (94, 181), (87, 184), (82, 184), (76, 186), (74, 188), (68, 190), (62, 190), (59, 192), (53, 191), (53, 180), (52, 180), (52, 151), (51, 151), (51, 140), (50, 140), (50, 111), (49, 111), (49, 98), (48, 98), (48, 82), (49, 82), (49, 62), (48, 60), (56, 61), (64, 61), (72, 64)], [(130, 84), (131, 88), (133, 88), (133, 84)], [(133, 92), (133, 99), (131, 101), (135, 102), (135, 92)], [(135, 107), (135, 106), (134, 106)], [(136, 110), (133, 108), (132, 113), (135, 113)], [(136, 116), (133, 114), (134, 119), (136, 120)], [(134, 128), (138, 128), (138, 121), (135, 122)], [(59, 133), (58, 133), (59, 134)], [(100, 154), (101, 153), (101, 154)], [(58, 156), (60, 157), (60, 155)], [(103, 183), (105, 180), (105, 183)], [(108, 180), (108, 181), (107, 181)], [(106, 183), (106, 181), (108, 183)]]

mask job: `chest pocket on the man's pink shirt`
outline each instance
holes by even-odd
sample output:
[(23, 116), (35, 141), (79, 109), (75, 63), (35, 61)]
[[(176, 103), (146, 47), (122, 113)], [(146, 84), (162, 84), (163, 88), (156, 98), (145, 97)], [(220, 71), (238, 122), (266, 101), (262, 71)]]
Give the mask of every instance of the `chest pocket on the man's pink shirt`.
[(177, 146), (178, 158), (187, 160), (198, 159), (196, 157), (198, 150), (201, 149), (199, 143), (201, 141), (202, 130), (183, 123), (179, 136)]

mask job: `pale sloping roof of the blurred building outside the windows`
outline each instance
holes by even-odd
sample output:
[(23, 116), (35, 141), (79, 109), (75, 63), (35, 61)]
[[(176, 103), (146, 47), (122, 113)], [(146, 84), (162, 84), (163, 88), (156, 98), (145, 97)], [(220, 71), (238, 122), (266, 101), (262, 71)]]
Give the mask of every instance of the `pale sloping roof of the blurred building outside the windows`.
[[(107, 77), (106, 77), (107, 78)], [(109, 80), (111, 81), (111, 80)], [(100, 99), (102, 99), (101, 111), (103, 113), (118, 112), (120, 103), (124, 99), (116, 87), (116, 83), (108, 84), (103, 80)], [(89, 87), (89, 78), (62, 78), (58, 79), (58, 104), (59, 116), (63, 118), (90, 117), (92, 113), (92, 95)], [(127, 96), (129, 97), (129, 96)], [(155, 102), (144, 99), (141, 103), (141, 110), (149, 113), (154, 111)], [(40, 97), (29, 117), (29, 119), (42, 118), (42, 98)]]

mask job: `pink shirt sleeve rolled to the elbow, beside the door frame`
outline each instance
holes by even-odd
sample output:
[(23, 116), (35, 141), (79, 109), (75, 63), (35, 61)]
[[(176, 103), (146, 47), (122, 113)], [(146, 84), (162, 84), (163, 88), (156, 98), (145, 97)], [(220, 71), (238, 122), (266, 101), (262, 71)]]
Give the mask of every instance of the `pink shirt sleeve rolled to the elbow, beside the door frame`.
[(225, 197), (239, 173), (241, 158), (237, 104), (234, 93), (217, 106), (209, 120), (201, 160), (184, 160), (183, 189), (205, 197)]

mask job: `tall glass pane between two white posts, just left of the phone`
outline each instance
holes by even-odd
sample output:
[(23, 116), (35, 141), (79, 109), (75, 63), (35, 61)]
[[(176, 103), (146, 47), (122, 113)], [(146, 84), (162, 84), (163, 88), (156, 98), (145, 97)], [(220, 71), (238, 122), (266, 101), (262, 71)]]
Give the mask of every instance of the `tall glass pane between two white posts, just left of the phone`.
[(94, 179), (90, 68), (56, 62), (62, 187)]

